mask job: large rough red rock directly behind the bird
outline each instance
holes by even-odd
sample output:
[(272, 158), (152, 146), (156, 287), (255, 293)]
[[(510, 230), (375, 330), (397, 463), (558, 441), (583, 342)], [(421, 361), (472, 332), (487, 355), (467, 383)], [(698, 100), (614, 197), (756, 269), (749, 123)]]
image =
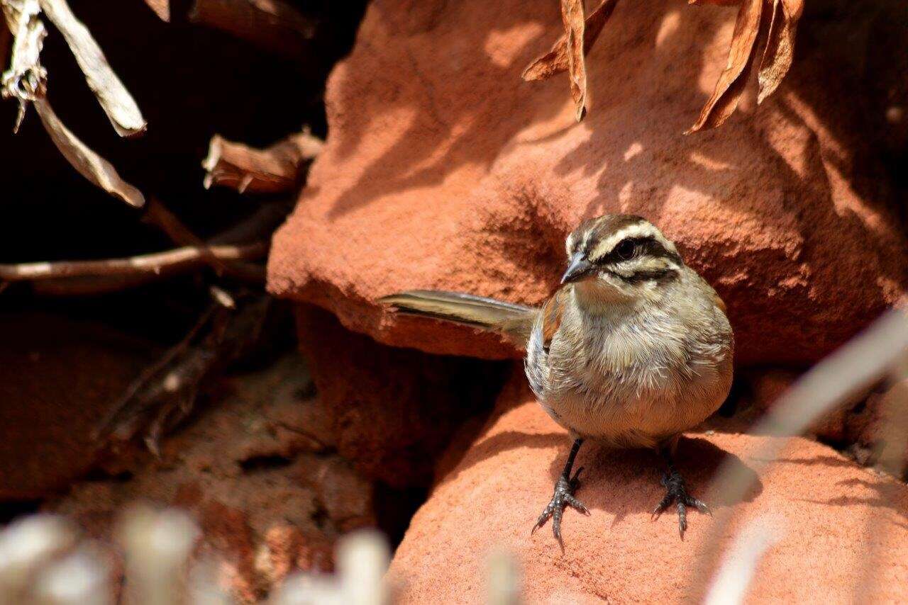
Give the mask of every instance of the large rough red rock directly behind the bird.
[(766, 102), (683, 136), (725, 66), (735, 8), (619, 4), (587, 57), (592, 102), (576, 125), (567, 77), (519, 77), (558, 37), (557, 2), (374, 2), (328, 83), (330, 135), (274, 239), (269, 287), (384, 343), (513, 355), (374, 301), (445, 288), (538, 303), (578, 220), (634, 212), (725, 298), (740, 362), (812, 362), (908, 283), (902, 201), (864, 137), (881, 119), (841, 102), (872, 78), (837, 60), (872, 44), (870, 21), (828, 16), (804, 16)]

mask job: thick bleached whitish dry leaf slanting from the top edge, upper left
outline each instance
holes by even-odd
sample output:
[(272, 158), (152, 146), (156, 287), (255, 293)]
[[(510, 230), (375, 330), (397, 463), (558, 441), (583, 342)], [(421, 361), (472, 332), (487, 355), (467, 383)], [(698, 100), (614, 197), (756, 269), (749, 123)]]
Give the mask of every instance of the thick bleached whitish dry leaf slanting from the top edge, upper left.
[(85, 81), (98, 98), (117, 134), (130, 137), (144, 132), (147, 124), (138, 105), (107, 63), (92, 34), (75, 18), (65, 0), (40, 0), (40, 4), (44, 14), (64, 35), (66, 44), (69, 44), (76, 63), (79, 63), (85, 75)]

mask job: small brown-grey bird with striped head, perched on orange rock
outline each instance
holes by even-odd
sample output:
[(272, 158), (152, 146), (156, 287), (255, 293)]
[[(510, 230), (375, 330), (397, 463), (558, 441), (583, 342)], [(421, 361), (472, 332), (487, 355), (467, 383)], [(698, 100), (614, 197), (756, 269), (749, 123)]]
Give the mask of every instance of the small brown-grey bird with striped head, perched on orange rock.
[(683, 540), (688, 508), (712, 514), (689, 493), (675, 454), (680, 435), (716, 412), (731, 388), (735, 341), (725, 303), (643, 217), (584, 220), (565, 248), (560, 287), (541, 307), (443, 290), (410, 290), (380, 302), (401, 314), (496, 332), (525, 351), (530, 388), (571, 439), (532, 532), (551, 519), (564, 550), (564, 511), (589, 514), (576, 496), (582, 467), (571, 474), (589, 441), (651, 448), (664, 457), (666, 491), (652, 517), (676, 503)]

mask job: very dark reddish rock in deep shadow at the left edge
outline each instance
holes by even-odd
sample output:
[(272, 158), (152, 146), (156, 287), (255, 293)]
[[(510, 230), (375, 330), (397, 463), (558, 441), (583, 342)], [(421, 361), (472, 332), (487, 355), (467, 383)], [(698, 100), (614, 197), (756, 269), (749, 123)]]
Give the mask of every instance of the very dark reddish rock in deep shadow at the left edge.
[(95, 462), (92, 431), (155, 346), (88, 321), (0, 322), (0, 500), (40, 498)]

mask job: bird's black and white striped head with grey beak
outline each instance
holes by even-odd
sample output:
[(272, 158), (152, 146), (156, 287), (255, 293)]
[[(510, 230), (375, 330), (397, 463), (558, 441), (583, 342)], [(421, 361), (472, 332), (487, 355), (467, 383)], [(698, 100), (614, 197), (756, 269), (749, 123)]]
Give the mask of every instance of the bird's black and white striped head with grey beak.
[(562, 284), (595, 279), (632, 294), (676, 278), (684, 267), (675, 244), (651, 222), (631, 214), (585, 220), (565, 246), (568, 270)]

